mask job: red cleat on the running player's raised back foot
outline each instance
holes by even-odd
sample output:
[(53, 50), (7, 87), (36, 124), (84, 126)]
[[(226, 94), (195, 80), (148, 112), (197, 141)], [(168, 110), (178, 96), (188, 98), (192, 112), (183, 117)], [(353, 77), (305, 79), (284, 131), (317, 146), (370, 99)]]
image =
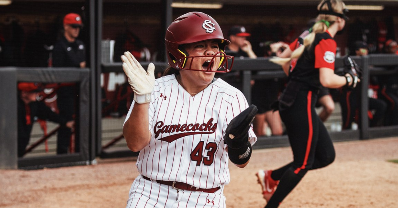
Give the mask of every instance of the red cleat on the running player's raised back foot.
[(271, 178), (271, 173), (272, 173), (271, 170), (259, 170), (256, 173), (257, 182), (261, 185), (261, 190), (263, 192), (263, 198), (265, 198), (267, 202), (275, 192), (275, 189), (279, 182), (279, 181), (274, 181)]

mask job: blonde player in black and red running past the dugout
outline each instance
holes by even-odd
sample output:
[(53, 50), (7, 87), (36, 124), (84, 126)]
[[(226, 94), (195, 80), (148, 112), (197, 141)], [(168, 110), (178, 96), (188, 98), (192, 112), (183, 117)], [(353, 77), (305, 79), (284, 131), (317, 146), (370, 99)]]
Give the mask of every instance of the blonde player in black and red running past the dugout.
[(297, 58), (289, 70), (287, 86), (279, 97), (279, 113), (287, 128), (293, 162), (273, 171), (257, 173), (267, 200), (265, 208), (278, 207), (308, 170), (325, 167), (334, 161), (332, 140), (315, 111), (316, 92), (320, 86), (356, 86), (356, 76), (334, 74), (336, 42), (333, 37), (348, 19), (345, 4), (341, 0), (323, 0), (318, 11), (317, 21), (304, 37), (303, 45), (292, 52), (291, 58), (275, 60), (286, 66)]

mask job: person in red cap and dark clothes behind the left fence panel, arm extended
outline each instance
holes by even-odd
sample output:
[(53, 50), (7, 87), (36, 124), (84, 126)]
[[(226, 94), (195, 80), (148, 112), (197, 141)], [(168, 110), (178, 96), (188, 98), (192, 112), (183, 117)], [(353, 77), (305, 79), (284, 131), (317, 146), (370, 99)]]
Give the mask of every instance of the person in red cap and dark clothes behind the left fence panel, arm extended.
[(18, 84), (18, 157), (23, 157), (33, 123), (37, 119), (59, 123), (66, 128), (73, 128), (74, 121), (68, 121), (53, 112), (43, 101), (38, 101), (44, 87), (39, 83), (20, 82)]

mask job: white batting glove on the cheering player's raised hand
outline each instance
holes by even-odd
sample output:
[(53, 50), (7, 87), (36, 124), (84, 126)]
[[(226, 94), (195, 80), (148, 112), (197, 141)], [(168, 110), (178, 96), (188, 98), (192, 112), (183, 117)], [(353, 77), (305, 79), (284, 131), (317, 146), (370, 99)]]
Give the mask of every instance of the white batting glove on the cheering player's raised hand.
[(155, 65), (150, 63), (145, 71), (131, 52), (124, 52), (121, 56), (123, 71), (134, 91), (134, 100), (137, 103), (149, 103), (150, 95), (155, 84)]

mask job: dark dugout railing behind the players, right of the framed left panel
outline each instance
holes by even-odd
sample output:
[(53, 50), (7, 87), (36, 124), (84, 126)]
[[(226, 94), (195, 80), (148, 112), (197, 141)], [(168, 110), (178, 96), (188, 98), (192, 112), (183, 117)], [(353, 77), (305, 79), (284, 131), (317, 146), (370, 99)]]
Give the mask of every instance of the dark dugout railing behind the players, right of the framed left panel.
[[(357, 130), (341, 130), (341, 131), (331, 131), (330, 136), (333, 141), (347, 141), (347, 140), (359, 140), (359, 139), (373, 139), (373, 138), (383, 138), (388, 136), (398, 135), (398, 126), (380, 126), (380, 127), (369, 127), (368, 121), (368, 91), (367, 86), (369, 85), (369, 77), (371, 75), (398, 75), (396, 66), (398, 66), (398, 56), (394, 54), (370, 54), (369, 56), (351, 56), (353, 60), (363, 68), (363, 79), (358, 87), (361, 87), (361, 106), (359, 113), (359, 121), (361, 122)], [(142, 66), (146, 68), (149, 62), (142, 63)], [(167, 63), (155, 62), (156, 70), (164, 70), (168, 67)], [(343, 67), (343, 57), (336, 59), (336, 71)], [(390, 68), (390, 69), (387, 69)], [(341, 70), (341, 69), (340, 69)], [(121, 68), (121, 63), (104, 63), (101, 67), (101, 72), (109, 73), (123, 73)], [(234, 66), (231, 73), (227, 74), (217, 74), (227, 82), (235, 82), (235, 74), (237, 72), (242, 74), (242, 78), (238, 83), (238, 88), (242, 90), (248, 102), (251, 100), (251, 86), (250, 80), (266, 80), (273, 78), (285, 78), (280, 66), (269, 62), (269, 58), (257, 58), (257, 59), (236, 59), (234, 61)], [(256, 75), (253, 72), (257, 72)], [(362, 87), (366, 86), (366, 87)], [(363, 119), (365, 118), (365, 119)], [(119, 137), (122, 140), (123, 137)], [(113, 140), (112, 142), (115, 142)], [(122, 140), (123, 142), (123, 140)], [(115, 144), (115, 143), (113, 143)], [(259, 137), (258, 142), (255, 144), (254, 149), (260, 148), (272, 148), (280, 146), (288, 146), (289, 141), (287, 136), (262, 136)], [(110, 146), (106, 147), (107, 150), (101, 151), (102, 156), (125, 156), (129, 155), (129, 150), (116, 150), (112, 151)], [(131, 153), (130, 155), (134, 155)]]

